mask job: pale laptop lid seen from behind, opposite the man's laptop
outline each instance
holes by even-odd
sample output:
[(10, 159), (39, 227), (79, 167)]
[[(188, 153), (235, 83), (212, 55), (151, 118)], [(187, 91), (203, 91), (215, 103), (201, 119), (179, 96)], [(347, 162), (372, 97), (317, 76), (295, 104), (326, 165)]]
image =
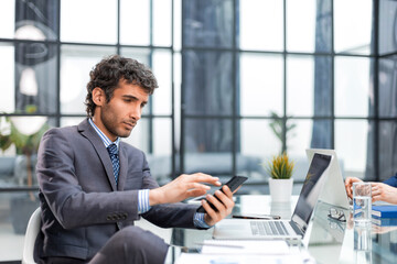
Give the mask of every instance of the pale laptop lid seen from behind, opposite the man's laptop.
[(348, 197), (346, 194), (346, 188), (344, 186), (344, 179), (341, 173), (340, 162), (336, 157), (336, 152), (334, 150), (323, 148), (309, 148), (305, 152), (309, 162), (313, 158), (314, 153), (330, 155), (333, 157), (330, 164), (330, 176), (328, 177), (325, 183), (326, 188), (324, 188), (321, 193), (319, 200), (334, 207), (348, 210)]

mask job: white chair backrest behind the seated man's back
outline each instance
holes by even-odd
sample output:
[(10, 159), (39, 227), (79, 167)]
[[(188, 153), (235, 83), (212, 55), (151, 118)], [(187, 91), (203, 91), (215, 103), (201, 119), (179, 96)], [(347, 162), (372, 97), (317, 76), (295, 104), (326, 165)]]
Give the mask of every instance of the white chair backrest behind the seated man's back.
[(41, 226), (41, 208), (34, 210), (29, 219), (26, 233), (23, 243), (22, 264), (35, 264), (34, 262), (34, 243), (37, 238)]

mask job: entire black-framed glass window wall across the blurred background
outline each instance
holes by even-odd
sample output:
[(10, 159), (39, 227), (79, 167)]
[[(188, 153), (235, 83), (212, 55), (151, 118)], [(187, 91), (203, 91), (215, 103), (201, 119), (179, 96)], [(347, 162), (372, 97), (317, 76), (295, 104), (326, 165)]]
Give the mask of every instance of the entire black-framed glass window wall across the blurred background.
[(159, 80), (125, 140), (160, 184), (242, 174), (242, 194), (268, 194), (262, 164), (287, 151), (297, 193), (310, 147), (336, 150), (344, 177), (394, 175), (396, 12), (391, 0), (0, 1), (0, 261), (21, 258), (39, 206), (42, 133), (86, 117), (88, 73), (110, 54)]

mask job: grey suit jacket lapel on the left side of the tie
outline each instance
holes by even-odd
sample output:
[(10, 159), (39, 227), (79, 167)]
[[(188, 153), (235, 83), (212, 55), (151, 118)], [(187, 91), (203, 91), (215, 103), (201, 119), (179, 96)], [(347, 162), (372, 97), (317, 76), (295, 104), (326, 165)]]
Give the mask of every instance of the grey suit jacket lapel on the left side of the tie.
[[(99, 135), (94, 130), (94, 128), (88, 123), (88, 119), (85, 119), (83, 122), (81, 122), (77, 128), (78, 131), (82, 133), (82, 135), (85, 136), (87, 140), (89, 140), (89, 142), (93, 144), (101, 163), (104, 164), (104, 168), (111, 185), (111, 189), (117, 190), (110, 156), (105, 147), (104, 142), (100, 140)], [(120, 175), (121, 175), (121, 164), (122, 163), (120, 161)]]

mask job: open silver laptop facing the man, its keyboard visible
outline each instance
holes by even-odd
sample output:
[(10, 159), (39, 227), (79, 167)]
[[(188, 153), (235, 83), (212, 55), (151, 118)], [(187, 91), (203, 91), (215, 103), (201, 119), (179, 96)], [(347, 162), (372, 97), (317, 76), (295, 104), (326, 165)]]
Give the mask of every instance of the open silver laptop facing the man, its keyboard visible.
[(326, 180), (332, 156), (314, 153), (290, 220), (224, 219), (215, 224), (214, 239), (303, 239), (314, 206)]

